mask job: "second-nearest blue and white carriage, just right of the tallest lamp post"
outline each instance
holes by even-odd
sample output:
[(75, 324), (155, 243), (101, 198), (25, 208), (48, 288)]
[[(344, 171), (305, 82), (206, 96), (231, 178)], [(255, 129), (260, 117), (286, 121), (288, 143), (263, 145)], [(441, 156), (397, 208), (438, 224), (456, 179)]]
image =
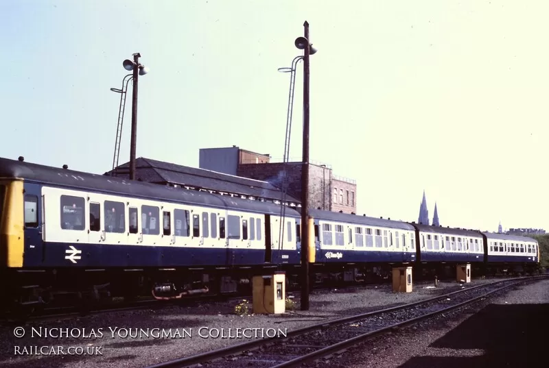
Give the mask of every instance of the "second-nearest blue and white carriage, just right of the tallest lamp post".
[(415, 261), (414, 228), (406, 222), (325, 210), (309, 210), (309, 221), (315, 249), (309, 260), (324, 271), (346, 266), (355, 273), (379, 275)]

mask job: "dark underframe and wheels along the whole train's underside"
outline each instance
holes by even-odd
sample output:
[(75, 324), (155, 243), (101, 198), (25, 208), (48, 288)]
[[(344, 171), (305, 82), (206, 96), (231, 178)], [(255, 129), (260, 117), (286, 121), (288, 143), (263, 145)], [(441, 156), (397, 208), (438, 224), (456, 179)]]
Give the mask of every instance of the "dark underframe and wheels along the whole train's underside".
[[(388, 282), (393, 267), (412, 267), (414, 280), (454, 278), (456, 264), (344, 264), (309, 265), (310, 286), (344, 286)], [(471, 264), (472, 277), (528, 275), (537, 273), (537, 264)], [(35, 309), (45, 306), (82, 306), (112, 302), (113, 298), (133, 301), (140, 297), (161, 300), (185, 299), (193, 295), (231, 295), (252, 293), (252, 278), (284, 271), (286, 290), (301, 286), (300, 265), (261, 265), (239, 268), (179, 269), (8, 269), (0, 275), (3, 310)]]

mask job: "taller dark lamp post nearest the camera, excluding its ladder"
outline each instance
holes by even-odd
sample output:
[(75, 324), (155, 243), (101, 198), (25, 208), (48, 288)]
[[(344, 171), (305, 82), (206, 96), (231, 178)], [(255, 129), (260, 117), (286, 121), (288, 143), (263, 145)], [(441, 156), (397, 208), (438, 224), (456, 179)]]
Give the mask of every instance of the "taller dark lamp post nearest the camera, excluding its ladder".
[[(304, 35), (295, 40), (298, 49), (303, 50), (303, 168), (301, 169), (301, 310), (309, 310), (309, 56), (316, 49), (309, 42), (309, 23), (303, 23)], [(303, 246), (305, 245), (305, 246)]]

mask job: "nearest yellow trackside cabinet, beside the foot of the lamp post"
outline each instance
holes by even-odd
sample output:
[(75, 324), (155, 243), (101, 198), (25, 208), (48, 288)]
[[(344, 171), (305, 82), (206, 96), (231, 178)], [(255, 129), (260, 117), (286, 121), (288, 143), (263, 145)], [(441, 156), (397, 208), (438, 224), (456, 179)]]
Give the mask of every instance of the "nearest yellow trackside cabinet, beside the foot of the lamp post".
[(257, 314), (279, 315), (286, 311), (286, 275), (275, 272), (273, 275), (253, 277), (253, 312)]

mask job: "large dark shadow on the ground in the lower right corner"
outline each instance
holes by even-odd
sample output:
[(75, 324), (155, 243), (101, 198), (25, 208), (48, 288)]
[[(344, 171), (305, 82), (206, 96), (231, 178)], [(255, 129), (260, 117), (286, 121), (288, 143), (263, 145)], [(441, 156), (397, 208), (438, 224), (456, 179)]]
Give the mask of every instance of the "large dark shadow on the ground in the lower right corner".
[(548, 317), (549, 304), (490, 304), (399, 368), (539, 367)]

